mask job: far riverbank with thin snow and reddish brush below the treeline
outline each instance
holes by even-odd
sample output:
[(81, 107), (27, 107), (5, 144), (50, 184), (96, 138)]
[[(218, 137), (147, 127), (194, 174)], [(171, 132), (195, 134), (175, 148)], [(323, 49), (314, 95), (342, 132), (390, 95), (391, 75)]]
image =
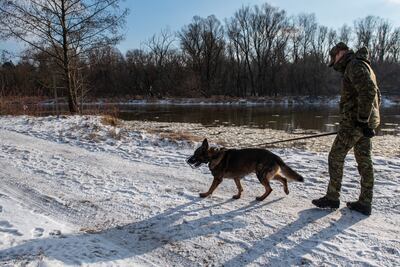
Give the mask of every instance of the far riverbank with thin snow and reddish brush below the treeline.
[[(88, 98), (83, 103), (84, 114), (114, 114), (121, 108), (140, 106), (199, 106), (199, 107), (330, 107), (338, 108), (340, 96), (323, 97), (220, 97), (211, 98), (144, 98), (140, 96)], [(58, 104), (57, 104), (58, 103)], [(79, 104), (81, 105), (81, 104)], [(400, 96), (386, 96), (382, 108), (400, 107)], [(58, 109), (58, 111), (56, 111)], [(9, 96), (0, 98), (0, 115), (69, 114), (67, 98)]]

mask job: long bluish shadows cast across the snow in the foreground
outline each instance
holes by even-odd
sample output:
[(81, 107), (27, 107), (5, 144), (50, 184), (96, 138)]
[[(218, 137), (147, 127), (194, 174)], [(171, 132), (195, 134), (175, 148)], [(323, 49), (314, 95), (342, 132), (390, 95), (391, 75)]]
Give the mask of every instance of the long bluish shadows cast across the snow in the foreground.
[[(125, 226), (106, 229), (95, 234), (78, 233), (62, 238), (50, 237), (28, 240), (23, 244), (0, 251), (0, 263), (10, 263), (15, 260), (30, 261), (40, 259), (42, 255), (65, 264), (123, 260), (144, 255), (163, 246), (179, 245), (179, 241), (246, 228), (246, 222), (237, 217), (246, 216), (248, 212), (283, 199), (278, 198), (264, 203), (253, 201), (246, 206), (226, 213), (210, 214), (207, 217), (189, 220), (196, 216), (197, 212), (223, 206), (232, 200), (204, 205), (197, 197), (187, 197), (189, 202), (185, 204)], [(283, 258), (293, 257), (294, 252), (298, 254), (297, 251), (306, 254), (315, 248), (319, 242), (331, 239), (364, 218), (362, 216), (356, 218), (342, 216), (335, 224), (313, 234), (310, 238), (301, 240), (298, 244), (293, 244), (293, 241), (288, 239), (291, 234), (328, 214), (326, 211), (317, 209), (304, 210), (300, 212), (300, 216), (295, 222), (284, 226), (249, 247), (244, 247), (243, 253), (225, 262), (224, 266), (235, 266), (243, 262), (251, 263), (272, 249), (278, 253), (278, 256), (269, 258), (269, 263), (282, 263)], [(277, 248), (277, 243), (291, 244), (293, 247), (285, 250), (284, 248)]]

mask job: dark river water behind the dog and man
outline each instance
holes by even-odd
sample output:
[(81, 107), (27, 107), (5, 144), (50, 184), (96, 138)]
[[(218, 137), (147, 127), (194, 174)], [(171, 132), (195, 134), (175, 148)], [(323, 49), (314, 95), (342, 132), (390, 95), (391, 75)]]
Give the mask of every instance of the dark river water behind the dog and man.
[[(400, 107), (381, 109), (379, 134), (400, 134)], [(205, 126), (236, 125), (271, 128), (334, 131), (339, 121), (338, 108), (324, 106), (271, 105), (121, 105), (119, 117), (124, 120), (201, 123)]]

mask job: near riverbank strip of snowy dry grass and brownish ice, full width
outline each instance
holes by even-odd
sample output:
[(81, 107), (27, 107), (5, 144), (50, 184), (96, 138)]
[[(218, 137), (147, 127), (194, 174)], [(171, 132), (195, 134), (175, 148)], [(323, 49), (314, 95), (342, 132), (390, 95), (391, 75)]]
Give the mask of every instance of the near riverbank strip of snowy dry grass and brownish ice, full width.
[[(0, 117), (0, 123), (3, 124), (4, 129), (18, 130), (24, 125), (24, 132), (40, 131), (42, 127), (49, 127), (52, 129), (55, 136), (60, 134), (68, 134), (79, 129), (81, 121), (89, 120), (92, 118), (100, 120), (99, 118), (108, 118), (105, 120), (112, 121), (112, 126), (109, 132), (111, 137), (124, 138), (129, 136), (130, 132), (141, 132), (143, 134), (156, 135), (166, 142), (184, 142), (190, 146), (196, 142), (202, 141), (207, 138), (211, 143), (219, 146), (230, 148), (244, 148), (248, 146), (255, 146), (262, 144), (298, 138), (302, 136), (320, 134), (321, 132), (314, 130), (293, 130), (291, 133), (274, 129), (259, 129), (247, 126), (230, 126), (230, 125), (213, 125), (204, 126), (198, 123), (171, 123), (171, 122), (155, 122), (155, 121), (124, 121), (112, 116), (97, 117), (97, 116), (61, 116), (61, 119), (56, 117), (29, 117), (29, 116), (6, 116)], [(58, 123), (52, 124), (48, 121), (56, 121)], [(68, 122), (60, 124), (60, 122)], [(77, 122), (75, 122), (77, 121)], [(28, 123), (29, 122), (29, 123)], [(94, 138), (98, 137), (100, 126), (87, 126), (88, 128), (80, 129), (82, 135), (80, 138)], [(94, 128), (92, 128), (94, 127)], [(373, 140), (373, 154), (376, 156), (384, 157), (400, 157), (400, 125), (394, 125), (396, 130), (395, 135), (375, 136)], [(63, 129), (65, 128), (65, 129)], [(60, 131), (62, 130), (62, 133)], [(115, 131), (115, 132), (113, 132)], [(84, 133), (84, 134), (83, 134)], [(105, 138), (105, 137), (101, 137)], [(287, 143), (280, 143), (269, 145), (268, 148), (279, 149), (300, 149), (307, 150), (314, 153), (327, 153), (329, 152), (335, 136), (325, 136), (314, 139), (298, 140)], [(352, 151), (350, 152), (352, 153)]]

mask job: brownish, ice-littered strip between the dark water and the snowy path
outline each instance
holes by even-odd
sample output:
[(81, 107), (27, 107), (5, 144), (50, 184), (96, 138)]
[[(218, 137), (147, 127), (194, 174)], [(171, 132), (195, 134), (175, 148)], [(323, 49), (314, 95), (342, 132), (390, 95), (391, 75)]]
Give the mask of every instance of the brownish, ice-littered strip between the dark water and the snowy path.
[[(257, 129), (236, 126), (205, 127), (193, 123), (164, 123), (151, 121), (123, 122), (129, 129), (155, 133), (165, 138), (201, 141), (208, 138), (212, 143), (226, 147), (248, 147), (257, 144), (319, 134), (312, 130), (295, 130), (293, 133), (273, 129)], [(400, 126), (397, 125), (397, 131)], [(268, 148), (297, 148), (310, 152), (329, 152), (335, 136), (298, 140), (269, 145)], [(373, 138), (373, 153), (377, 156), (400, 157), (400, 135), (376, 136)], [(262, 147), (262, 145), (261, 145)]]

